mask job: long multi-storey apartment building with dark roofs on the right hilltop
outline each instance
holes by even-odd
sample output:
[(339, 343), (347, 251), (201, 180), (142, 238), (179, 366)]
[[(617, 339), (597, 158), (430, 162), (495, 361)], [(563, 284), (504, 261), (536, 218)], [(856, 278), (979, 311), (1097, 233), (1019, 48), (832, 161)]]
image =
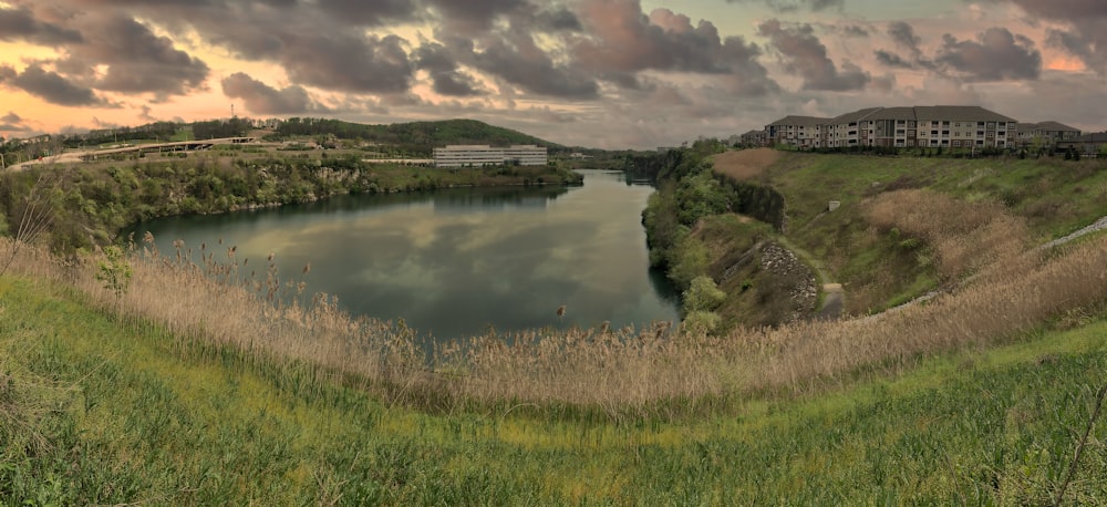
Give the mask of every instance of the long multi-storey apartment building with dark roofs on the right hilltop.
[[(980, 106), (938, 105), (869, 107), (830, 120), (787, 116), (766, 125), (765, 130), (770, 144), (801, 147), (979, 149), (1014, 146), (1016, 125), (1014, 118)], [(815, 133), (817, 138), (807, 139), (800, 133)]]

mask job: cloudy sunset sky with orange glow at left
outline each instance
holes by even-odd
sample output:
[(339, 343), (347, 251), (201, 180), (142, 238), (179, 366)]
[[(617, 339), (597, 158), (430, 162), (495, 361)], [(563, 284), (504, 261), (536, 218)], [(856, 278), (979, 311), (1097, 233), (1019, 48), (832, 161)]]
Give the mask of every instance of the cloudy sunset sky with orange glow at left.
[(1107, 128), (1105, 0), (0, 0), (0, 136), (468, 117), (646, 148), (980, 104)]

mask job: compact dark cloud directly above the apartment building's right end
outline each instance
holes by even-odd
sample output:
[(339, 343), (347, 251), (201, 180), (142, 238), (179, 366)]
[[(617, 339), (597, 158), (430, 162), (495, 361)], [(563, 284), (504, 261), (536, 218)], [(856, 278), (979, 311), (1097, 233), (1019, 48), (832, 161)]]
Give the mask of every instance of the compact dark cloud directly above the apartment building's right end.
[(990, 28), (975, 41), (946, 34), (934, 61), (968, 81), (1036, 80), (1042, 73), (1034, 42), (1004, 28)]

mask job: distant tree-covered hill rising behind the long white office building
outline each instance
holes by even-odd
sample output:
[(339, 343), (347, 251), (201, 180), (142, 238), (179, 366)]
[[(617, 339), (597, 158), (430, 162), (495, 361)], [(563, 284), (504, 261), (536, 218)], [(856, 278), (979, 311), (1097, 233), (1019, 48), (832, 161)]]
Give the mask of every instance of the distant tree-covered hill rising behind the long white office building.
[(447, 144), (537, 144), (554, 151), (563, 146), (510, 128), (489, 125), (476, 120), (446, 120), (439, 122), (394, 123), (365, 125), (325, 118), (289, 118), (277, 127), (281, 136), (333, 135), (340, 139), (362, 139), (412, 151), (430, 153), (435, 146)]

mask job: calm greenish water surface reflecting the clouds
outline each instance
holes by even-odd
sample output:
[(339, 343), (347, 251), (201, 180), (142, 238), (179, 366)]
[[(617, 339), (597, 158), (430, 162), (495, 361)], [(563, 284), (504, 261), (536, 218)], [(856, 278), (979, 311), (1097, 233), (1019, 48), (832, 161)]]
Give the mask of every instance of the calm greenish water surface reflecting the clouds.
[[(642, 327), (679, 320), (664, 277), (649, 268), (641, 213), (653, 188), (586, 172), (583, 187), (448, 189), (342, 196), (310, 205), (143, 224), (157, 247), (223, 240), (239, 261), (337, 296), (353, 313), (436, 340), (542, 327)], [(198, 257), (198, 255), (197, 255)], [(259, 273), (263, 277), (263, 273)], [(567, 308), (563, 319), (557, 309)]]

